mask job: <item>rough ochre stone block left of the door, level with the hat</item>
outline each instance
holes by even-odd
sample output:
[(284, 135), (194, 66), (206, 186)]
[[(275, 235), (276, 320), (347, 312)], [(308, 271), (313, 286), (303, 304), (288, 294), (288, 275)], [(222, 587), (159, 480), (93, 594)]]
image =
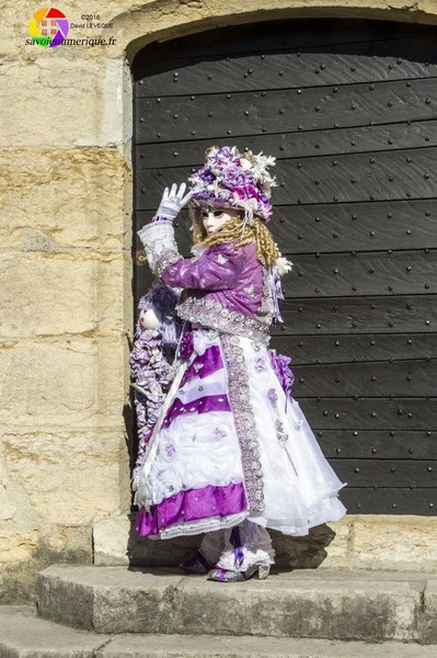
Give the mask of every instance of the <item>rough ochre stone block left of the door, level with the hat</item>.
[(14, 145), (0, 151), (0, 167), (2, 249), (130, 252), (131, 171), (118, 150)]

